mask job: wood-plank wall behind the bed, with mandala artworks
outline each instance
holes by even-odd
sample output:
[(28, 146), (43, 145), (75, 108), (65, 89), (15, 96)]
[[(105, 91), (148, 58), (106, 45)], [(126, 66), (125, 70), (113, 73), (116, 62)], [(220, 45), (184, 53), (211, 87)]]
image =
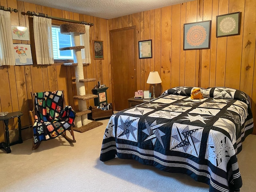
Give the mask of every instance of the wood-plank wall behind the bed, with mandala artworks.
[[(175, 86), (240, 89), (252, 100), (256, 124), (255, 7), (255, 0), (194, 0), (113, 18), (108, 28), (136, 26), (137, 41), (152, 39), (153, 57), (137, 59), (138, 90), (152, 91), (146, 80), (153, 70), (162, 79), (157, 95)], [(216, 16), (233, 12), (242, 12), (240, 35), (216, 38)], [(212, 21), (210, 49), (184, 51), (184, 23), (206, 20)]]

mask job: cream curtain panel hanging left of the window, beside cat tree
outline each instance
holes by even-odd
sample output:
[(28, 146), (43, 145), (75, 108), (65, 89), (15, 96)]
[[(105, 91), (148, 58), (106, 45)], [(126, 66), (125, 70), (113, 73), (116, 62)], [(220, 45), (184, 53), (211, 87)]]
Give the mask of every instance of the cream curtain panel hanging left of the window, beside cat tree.
[(54, 64), (52, 47), (52, 19), (34, 16), (33, 27), (37, 64)]

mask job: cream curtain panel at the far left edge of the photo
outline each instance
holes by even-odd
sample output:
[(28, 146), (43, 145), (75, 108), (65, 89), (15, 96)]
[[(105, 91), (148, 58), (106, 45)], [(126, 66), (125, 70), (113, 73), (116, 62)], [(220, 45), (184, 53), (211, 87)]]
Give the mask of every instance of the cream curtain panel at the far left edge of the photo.
[(0, 10), (0, 66), (15, 65), (10, 12)]

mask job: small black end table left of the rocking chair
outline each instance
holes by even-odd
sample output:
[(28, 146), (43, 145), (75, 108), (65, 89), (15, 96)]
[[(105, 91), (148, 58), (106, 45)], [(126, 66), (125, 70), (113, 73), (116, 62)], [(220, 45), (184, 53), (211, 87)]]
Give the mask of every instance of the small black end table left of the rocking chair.
[[(6, 142), (0, 143), (0, 148), (3, 148), (7, 153), (12, 152), (10, 149), (10, 146), (23, 142), (21, 137), (21, 121), (20, 121), (20, 116), (22, 115), (23, 115), (22, 112), (16, 111), (16, 112), (10, 112), (3, 117), (0, 116), (0, 120), (4, 121), (4, 124), (5, 124), (5, 139), (6, 139)], [(9, 123), (9, 119), (12, 119), (15, 117), (18, 117), (19, 140), (10, 144), (8, 123)]]

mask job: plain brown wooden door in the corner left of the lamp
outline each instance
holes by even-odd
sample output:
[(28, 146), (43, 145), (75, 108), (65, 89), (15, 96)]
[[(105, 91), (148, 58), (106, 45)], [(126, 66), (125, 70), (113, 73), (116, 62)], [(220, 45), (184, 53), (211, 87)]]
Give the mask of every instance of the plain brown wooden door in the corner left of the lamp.
[(128, 98), (136, 91), (135, 76), (135, 34), (136, 27), (110, 30), (110, 51), (112, 58), (112, 95), (114, 110), (128, 108)]

